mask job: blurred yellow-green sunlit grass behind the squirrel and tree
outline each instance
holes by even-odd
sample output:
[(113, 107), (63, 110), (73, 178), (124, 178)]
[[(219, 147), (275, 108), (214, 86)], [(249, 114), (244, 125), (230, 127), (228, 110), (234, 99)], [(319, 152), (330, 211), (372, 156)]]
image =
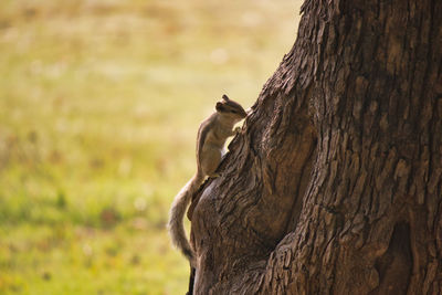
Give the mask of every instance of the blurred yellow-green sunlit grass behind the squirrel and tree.
[(2, 0), (0, 294), (183, 294), (165, 223), (199, 123), (253, 104), (299, 6)]

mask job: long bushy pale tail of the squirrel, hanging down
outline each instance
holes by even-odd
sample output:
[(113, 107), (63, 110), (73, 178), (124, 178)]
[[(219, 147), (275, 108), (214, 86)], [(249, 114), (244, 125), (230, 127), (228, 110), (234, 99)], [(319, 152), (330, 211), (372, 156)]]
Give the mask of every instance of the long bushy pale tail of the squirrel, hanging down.
[(172, 244), (182, 252), (192, 266), (194, 266), (194, 257), (189, 241), (186, 238), (183, 218), (193, 193), (197, 192), (203, 180), (204, 176), (197, 172), (178, 192), (170, 209), (169, 223), (167, 225)]

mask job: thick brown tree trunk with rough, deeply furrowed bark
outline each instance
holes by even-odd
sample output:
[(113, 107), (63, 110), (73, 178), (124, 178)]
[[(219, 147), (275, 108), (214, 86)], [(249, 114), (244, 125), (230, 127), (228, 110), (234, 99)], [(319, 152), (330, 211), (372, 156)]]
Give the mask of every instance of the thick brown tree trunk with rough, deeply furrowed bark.
[(442, 1), (302, 13), (198, 196), (196, 294), (442, 294)]

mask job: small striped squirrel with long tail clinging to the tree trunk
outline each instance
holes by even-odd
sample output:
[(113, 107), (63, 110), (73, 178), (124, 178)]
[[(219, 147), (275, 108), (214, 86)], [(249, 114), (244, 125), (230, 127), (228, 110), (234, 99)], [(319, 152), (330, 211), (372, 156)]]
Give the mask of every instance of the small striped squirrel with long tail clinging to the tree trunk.
[(244, 108), (224, 94), (222, 99), (217, 102), (215, 112), (204, 119), (198, 129), (197, 172), (175, 197), (168, 222), (172, 244), (182, 252), (193, 268), (196, 257), (183, 226), (186, 209), (206, 177), (219, 176), (215, 170), (221, 162), (225, 140), (240, 131), (240, 127), (233, 129), (233, 126), (246, 116)]

